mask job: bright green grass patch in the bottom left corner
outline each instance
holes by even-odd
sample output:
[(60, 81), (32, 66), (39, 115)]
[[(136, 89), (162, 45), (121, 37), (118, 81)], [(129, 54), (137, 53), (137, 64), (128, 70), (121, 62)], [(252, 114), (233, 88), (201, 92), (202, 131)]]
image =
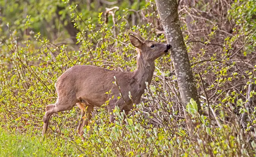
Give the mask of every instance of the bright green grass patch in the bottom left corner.
[(80, 151), (72, 142), (61, 138), (41, 140), (31, 132), (20, 134), (0, 127), (0, 157), (73, 156)]

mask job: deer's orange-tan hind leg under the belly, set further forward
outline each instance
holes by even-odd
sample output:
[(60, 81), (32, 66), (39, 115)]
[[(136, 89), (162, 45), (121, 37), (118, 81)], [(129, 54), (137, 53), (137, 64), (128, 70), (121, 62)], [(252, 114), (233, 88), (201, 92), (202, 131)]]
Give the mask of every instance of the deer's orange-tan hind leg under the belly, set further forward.
[[(80, 108), (82, 114), (81, 114), (81, 119), (80, 119), (79, 126), (78, 126), (77, 130), (78, 130), (78, 134), (80, 135), (82, 140), (85, 140), (85, 138), (83, 136), (83, 133), (84, 133), (83, 128), (85, 126), (87, 126), (89, 121), (91, 120), (93, 106), (92, 105), (84, 105), (83, 103), (78, 102), (78, 107)], [(86, 113), (86, 117), (84, 117), (85, 113)]]

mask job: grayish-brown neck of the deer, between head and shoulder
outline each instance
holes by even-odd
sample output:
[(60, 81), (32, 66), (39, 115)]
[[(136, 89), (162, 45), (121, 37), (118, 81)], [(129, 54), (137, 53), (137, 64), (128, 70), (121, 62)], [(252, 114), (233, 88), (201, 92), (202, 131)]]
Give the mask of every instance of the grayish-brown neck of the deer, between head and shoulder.
[(144, 60), (143, 56), (141, 55), (137, 56), (137, 69), (134, 71), (134, 78), (137, 80), (140, 88), (146, 89), (145, 82), (148, 82), (148, 84), (151, 83), (154, 69), (154, 61)]

